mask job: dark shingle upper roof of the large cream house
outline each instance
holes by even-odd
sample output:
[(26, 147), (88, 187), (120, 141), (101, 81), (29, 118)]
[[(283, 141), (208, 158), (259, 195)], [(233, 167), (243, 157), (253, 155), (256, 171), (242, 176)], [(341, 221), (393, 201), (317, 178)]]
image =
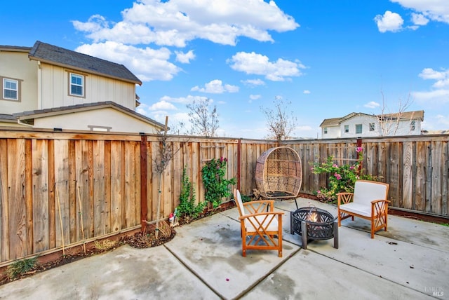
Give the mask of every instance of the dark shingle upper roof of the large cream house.
[(115, 62), (109, 62), (48, 43), (42, 43), (41, 41), (34, 43), (33, 48), (29, 51), (28, 57), (31, 60), (40, 60), (61, 67), (71, 67), (92, 74), (100, 74), (114, 79), (142, 84), (142, 81), (123, 66), (123, 64), (116, 64)]

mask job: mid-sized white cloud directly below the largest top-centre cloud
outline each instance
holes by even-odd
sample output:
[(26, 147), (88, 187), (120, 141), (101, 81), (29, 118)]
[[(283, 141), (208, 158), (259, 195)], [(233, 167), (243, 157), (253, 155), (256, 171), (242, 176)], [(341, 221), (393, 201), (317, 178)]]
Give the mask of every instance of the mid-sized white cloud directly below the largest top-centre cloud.
[(281, 58), (276, 60), (276, 62), (270, 62), (267, 56), (254, 52), (236, 53), (227, 60), (227, 63), (236, 71), (262, 75), (271, 81), (285, 81), (288, 77), (300, 76), (302, 75), (300, 69), (305, 69), (300, 62), (291, 62)]

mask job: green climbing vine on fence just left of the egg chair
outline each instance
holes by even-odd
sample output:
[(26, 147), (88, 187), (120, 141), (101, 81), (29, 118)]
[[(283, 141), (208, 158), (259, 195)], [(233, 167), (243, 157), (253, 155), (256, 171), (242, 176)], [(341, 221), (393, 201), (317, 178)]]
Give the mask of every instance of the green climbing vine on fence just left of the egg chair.
[(222, 203), (222, 198), (231, 196), (229, 185), (236, 184), (236, 179), (226, 179), (227, 158), (211, 159), (201, 169), (206, 203), (214, 208)]

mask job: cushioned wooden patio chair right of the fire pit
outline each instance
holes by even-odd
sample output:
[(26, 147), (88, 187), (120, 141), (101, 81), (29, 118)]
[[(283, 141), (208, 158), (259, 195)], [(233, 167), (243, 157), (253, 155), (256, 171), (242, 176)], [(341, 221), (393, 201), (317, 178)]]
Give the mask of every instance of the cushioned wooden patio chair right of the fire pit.
[(342, 219), (361, 217), (371, 221), (371, 238), (375, 231), (388, 226), (389, 184), (369, 180), (357, 180), (354, 193), (337, 193), (338, 226)]

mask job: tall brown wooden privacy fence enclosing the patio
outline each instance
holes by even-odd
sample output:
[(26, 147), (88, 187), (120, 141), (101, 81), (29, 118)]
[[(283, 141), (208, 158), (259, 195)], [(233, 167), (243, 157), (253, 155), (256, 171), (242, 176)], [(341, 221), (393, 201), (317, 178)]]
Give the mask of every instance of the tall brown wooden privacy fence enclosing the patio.
[[(448, 216), (448, 137), (363, 139), (363, 167), (389, 182), (392, 206)], [(330, 155), (356, 159), (356, 139), (283, 142), (302, 161), (301, 193), (326, 186), (309, 162)], [(160, 137), (93, 132), (0, 128), (0, 264), (116, 233), (156, 219)], [(168, 136), (173, 158), (161, 179), (161, 215), (179, 204), (186, 168), (198, 201), (201, 168), (228, 158), (227, 177), (243, 194), (255, 189), (257, 158), (276, 142), (255, 139)]]

